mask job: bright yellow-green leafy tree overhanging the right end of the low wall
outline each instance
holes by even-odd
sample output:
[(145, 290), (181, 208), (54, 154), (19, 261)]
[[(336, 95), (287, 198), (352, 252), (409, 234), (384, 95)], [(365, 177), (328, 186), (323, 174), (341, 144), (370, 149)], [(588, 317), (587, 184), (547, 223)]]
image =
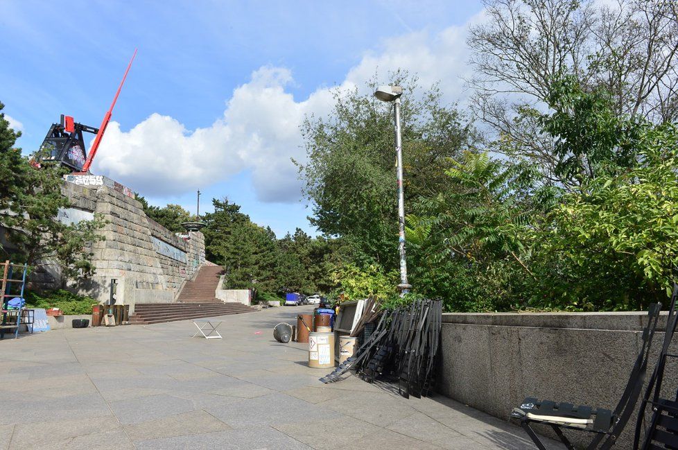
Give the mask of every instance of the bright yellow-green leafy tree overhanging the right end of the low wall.
[(678, 265), (678, 129), (651, 127), (638, 166), (568, 193), (525, 230), (544, 284), (532, 304), (641, 309), (666, 298)]

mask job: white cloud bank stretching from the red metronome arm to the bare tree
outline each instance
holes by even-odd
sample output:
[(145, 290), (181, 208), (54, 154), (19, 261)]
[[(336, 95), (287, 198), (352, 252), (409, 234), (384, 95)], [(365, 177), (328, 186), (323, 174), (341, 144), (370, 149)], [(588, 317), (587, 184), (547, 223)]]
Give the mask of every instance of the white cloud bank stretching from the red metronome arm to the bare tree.
[[(341, 86), (363, 86), (375, 73), (385, 80), (400, 67), (417, 73), (424, 87), (440, 81), (445, 101), (460, 100), (468, 71), (466, 30), (452, 26), (433, 36), (413, 32), (385, 40), (379, 51), (363, 55)], [(292, 82), (288, 69), (261, 67), (234, 89), (223, 116), (207, 128), (186, 130), (179, 120), (155, 113), (127, 132), (112, 122), (95, 171), (144, 195), (168, 196), (250, 170), (259, 200), (293, 202), (301, 182), (290, 158), (305, 157), (299, 126), (306, 114), (327, 114), (333, 99), (322, 87), (295, 101), (286, 91)]]

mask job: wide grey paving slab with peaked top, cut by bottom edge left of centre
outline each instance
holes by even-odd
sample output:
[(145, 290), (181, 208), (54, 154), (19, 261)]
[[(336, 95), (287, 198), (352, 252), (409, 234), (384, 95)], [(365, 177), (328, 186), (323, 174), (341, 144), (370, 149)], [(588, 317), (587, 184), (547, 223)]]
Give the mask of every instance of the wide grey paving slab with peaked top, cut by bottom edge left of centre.
[(144, 440), (135, 443), (138, 450), (312, 450), (280, 431), (268, 426), (248, 427), (244, 429)]

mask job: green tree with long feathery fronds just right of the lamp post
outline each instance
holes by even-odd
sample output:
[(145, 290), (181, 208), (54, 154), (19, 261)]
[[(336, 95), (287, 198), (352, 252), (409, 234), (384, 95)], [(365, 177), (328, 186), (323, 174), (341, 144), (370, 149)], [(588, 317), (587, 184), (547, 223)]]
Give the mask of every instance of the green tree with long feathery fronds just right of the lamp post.
[(449, 309), (508, 309), (534, 277), (519, 232), (544, 204), (534, 202), (535, 172), (467, 152), (446, 174), (450, 189), (407, 217), (412, 284)]

